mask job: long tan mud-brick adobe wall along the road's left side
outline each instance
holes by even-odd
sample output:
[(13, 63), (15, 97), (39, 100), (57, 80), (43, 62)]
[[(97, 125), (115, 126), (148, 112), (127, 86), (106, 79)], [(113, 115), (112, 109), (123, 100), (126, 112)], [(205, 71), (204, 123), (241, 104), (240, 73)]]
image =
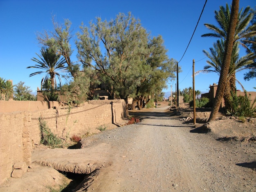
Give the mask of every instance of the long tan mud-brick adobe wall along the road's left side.
[[(25, 102), (25, 101), (19, 101)], [(35, 101), (41, 102), (41, 101)], [(46, 102), (46, 101), (45, 101)], [(47, 103), (47, 102), (46, 102)], [(31, 104), (31, 103), (30, 103)], [(38, 103), (34, 103), (36, 106)], [(69, 138), (73, 134), (82, 136), (90, 132), (100, 132), (99, 126), (121, 124), (126, 116), (124, 100), (95, 100), (81, 107), (57, 107), (56, 109), (40, 109), (31, 111), (27, 101), (20, 104), (20, 111), (2, 112), (9, 109), (8, 103), (0, 103), (0, 184), (11, 176), (13, 164), (17, 162), (31, 163), (31, 153), (35, 144), (40, 144), (40, 116), (47, 122), (48, 127), (60, 138)], [(13, 102), (9, 102), (13, 105)], [(41, 103), (38, 105), (47, 106)], [(26, 107), (24, 107), (26, 106)], [(30, 105), (31, 106), (31, 105)], [(52, 106), (52, 105), (49, 105)], [(37, 108), (37, 107), (36, 107)], [(23, 111), (22, 111), (22, 110)]]

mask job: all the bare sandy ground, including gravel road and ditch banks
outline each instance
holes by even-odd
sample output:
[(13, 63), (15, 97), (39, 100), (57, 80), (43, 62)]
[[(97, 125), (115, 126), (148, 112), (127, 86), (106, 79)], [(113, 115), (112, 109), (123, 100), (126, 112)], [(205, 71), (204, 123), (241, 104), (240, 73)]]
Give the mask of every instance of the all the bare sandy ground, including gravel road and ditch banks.
[(256, 191), (255, 118), (204, 124), (204, 109), (193, 125), (187, 106), (168, 108), (130, 111), (142, 121), (84, 138), (82, 149), (38, 146), (28, 172), (0, 191)]

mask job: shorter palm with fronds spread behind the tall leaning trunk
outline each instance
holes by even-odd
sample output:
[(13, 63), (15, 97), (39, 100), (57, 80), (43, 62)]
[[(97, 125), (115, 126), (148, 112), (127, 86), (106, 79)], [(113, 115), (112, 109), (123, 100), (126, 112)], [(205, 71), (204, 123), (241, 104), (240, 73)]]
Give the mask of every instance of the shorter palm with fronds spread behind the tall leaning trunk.
[[(202, 73), (210, 73), (215, 72), (220, 75), (221, 65), (223, 63), (223, 57), (225, 52), (225, 42), (224, 40), (220, 39), (217, 40), (216, 43), (213, 44), (213, 47), (210, 48), (210, 53), (206, 50), (203, 50), (204, 54), (210, 59), (207, 60), (206, 66), (204, 66), (203, 70), (195, 72), (198, 74)], [(237, 81), (241, 87), (243, 85), (236, 79), (236, 72), (250, 69), (249, 65), (254, 63), (254, 53), (246, 54), (245, 56), (239, 58), (239, 47), (238, 42), (235, 42), (233, 45), (232, 53), (231, 53), (231, 62), (229, 66), (229, 71), (227, 75), (227, 81), (225, 86), (225, 93), (224, 93), (224, 100), (225, 100), (225, 107), (227, 109), (230, 108), (230, 97), (231, 93), (236, 93), (235, 82)], [(243, 88), (244, 89), (244, 88)]]

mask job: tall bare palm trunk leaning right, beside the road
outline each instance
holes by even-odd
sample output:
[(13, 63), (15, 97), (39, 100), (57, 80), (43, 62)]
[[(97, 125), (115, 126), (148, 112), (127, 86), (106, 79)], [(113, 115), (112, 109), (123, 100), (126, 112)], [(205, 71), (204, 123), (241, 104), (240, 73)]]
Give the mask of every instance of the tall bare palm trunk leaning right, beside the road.
[(225, 45), (225, 52), (223, 63), (220, 71), (220, 79), (218, 83), (218, 88), (216, 92), (215, 100), (213, 101), (213, 108), (211, 110), (211, 115), (208, 119), (208, 122), (214, 121), (220, 109), (220, 103), (224, 95), (225, 84), (227, 82), (227, 75), (229, 72), (229, 66), (231, 61), (231, 54), (234, 44), (234, 35), (236, 29), (236, 22), (238, 18), (238, 10), (239, 10), (239, 0), (232, 0), (232, 8), (231, 8), (231, 16), (229, 20), (229, 28), (227, 32), (227, 41)]

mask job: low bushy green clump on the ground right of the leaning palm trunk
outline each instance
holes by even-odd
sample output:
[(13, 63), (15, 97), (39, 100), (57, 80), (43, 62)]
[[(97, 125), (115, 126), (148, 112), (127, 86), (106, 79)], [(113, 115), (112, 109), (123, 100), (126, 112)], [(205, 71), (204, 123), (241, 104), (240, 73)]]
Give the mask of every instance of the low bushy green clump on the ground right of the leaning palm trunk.
[(256, 117), (256, 98), (251, 103), (250, 96), (231, 96), (231, 110), (227, 111), (227, 114), (239, 117)]

